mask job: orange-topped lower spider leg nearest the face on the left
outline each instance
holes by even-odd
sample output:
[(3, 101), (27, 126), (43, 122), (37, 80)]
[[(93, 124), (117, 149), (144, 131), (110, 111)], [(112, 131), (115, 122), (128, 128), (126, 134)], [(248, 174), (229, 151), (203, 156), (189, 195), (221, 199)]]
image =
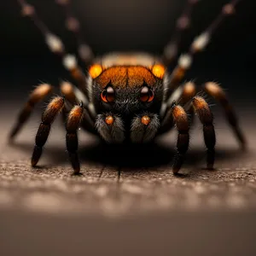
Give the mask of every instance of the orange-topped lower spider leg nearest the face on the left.
[(73, 174), (79, 174), (80, 172), (80, 164), (79, 164), (79, 140), (78, 140), (78, 129), (79, 125), (84, 118), (84, 106), (81, 103), (79, 106), (74, 106), (67, 117), (67, 135), (66, 135), (66, 143), (67, 143), (67, 153), (69, 156), (69, 160), (73, 166)]

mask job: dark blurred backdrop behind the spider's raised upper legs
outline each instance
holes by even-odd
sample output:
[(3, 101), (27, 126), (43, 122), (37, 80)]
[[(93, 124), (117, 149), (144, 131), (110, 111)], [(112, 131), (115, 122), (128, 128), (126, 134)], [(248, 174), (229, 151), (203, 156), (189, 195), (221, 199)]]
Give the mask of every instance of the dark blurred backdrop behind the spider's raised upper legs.
[[(64, 25), (64, 12), (55, 1), (28, 1), (49, 29), (60, 36), (68, 52), (76, 52), (75, 38)], [(175, 20), (181, 14), (185, 0), (118, 1), (73, 0), (73, 13), (82, 23), (84, 38), (96, 55), (113, 50), (146, 50), (160, 54), (172, 38)], [(193, 11), (192, 26), (183, 33), (180, 51), (186, 51), (192, 39), (218, 15), (226, 0), (200, 1)], [(57, 85), (69, 79), (59, 59), (49, 53), (44, 38), (29, 19), (20, 15), (15, 0), (1, 1), (0, 81), (3, 90), (11, 90), (8, 98), (24, 98), (39, 81)], [(256, 58), (255, 3), (243, 0), (237, 12), (214, 34), (206, 52), (197, 55), (186, 79), (198, 84), (217, 80), (230, 91), (237, 103), (254, 102), (254, 68)], [(8, 87), (8, 88), (7, 88)], [(10, 92), (9, 90), (9, 92)], [(6, 96), (1, 95), (5, 101)]]

